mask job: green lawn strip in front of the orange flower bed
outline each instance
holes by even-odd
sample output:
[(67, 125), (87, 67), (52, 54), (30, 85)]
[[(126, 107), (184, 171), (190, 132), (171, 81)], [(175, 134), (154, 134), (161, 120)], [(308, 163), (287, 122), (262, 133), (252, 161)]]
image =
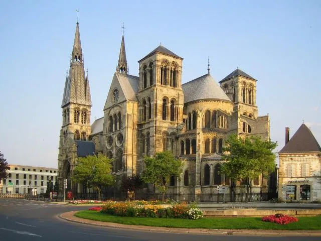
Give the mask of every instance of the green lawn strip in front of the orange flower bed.
[(120, 217), (97, 211), (79, 211), (75, 216), (129, 225), (208, 228), (208, 229), (277, 229), (277, 230), (319, 230), (321, 229), (321, 215), (313, 217), (298, 217), (298, 222), (280, 225), (263, 222), (260, 217), (232, 217), (232, 218), (201, 218), (198, 220), (179, 218), (150, 218), (150, 217)]

